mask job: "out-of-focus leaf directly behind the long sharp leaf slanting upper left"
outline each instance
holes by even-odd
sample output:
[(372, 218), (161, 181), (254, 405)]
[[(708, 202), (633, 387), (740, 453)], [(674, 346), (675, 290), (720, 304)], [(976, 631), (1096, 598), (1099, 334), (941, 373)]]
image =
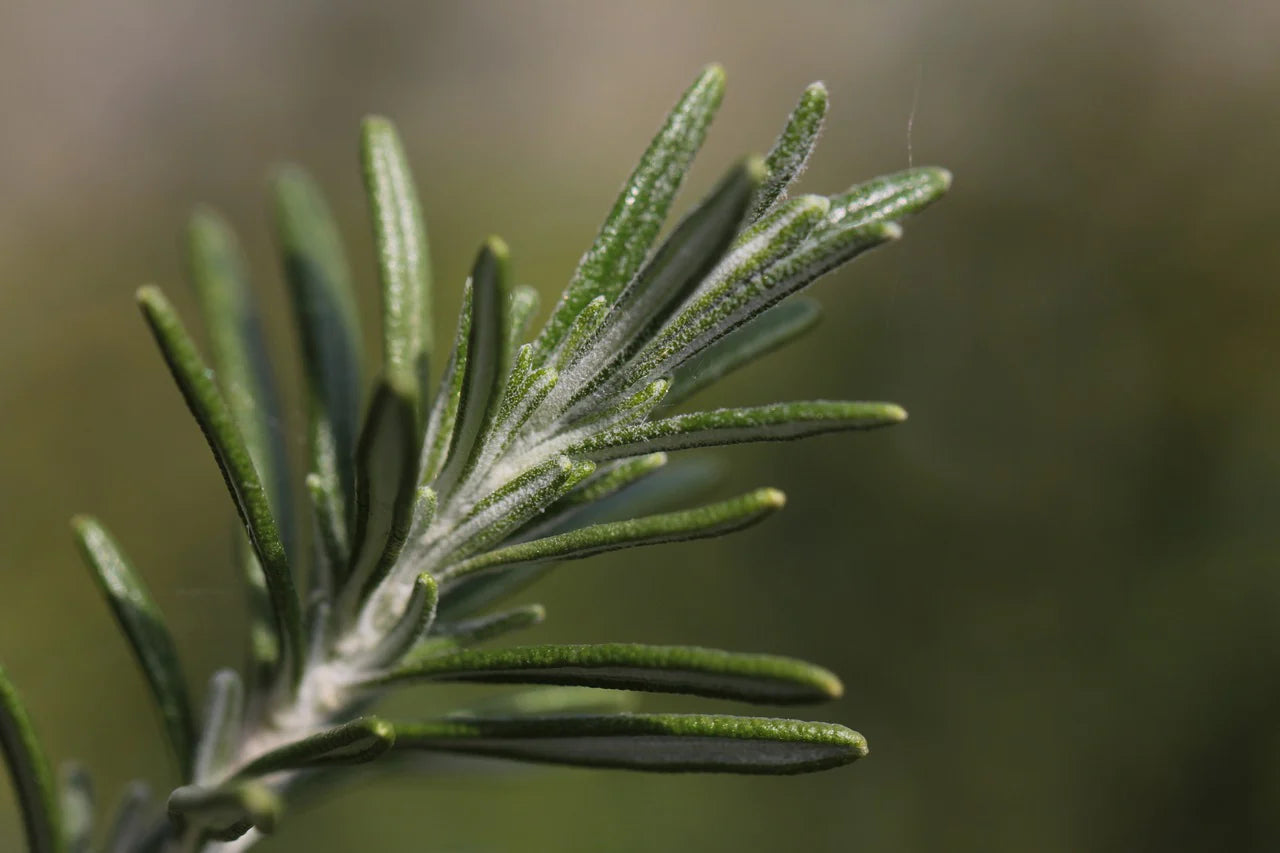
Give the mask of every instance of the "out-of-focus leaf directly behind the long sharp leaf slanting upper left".
[[(293, 507), (289, 470), (280, 430), (280, 403), (268, 360), (262, 323), (250, 287), (248, 270), (230, 227), (212, 210), (197, 210), (187, 227), (187, 265), (209, 329), (214, 375), (268, 491), (273, 516), (287, 551), (292, 551)], [(248, 593), (251, 669), (269, 681), (279, 665), (273, 640), (274, 615), (262, 566), (251, 548), (242, 549)]]

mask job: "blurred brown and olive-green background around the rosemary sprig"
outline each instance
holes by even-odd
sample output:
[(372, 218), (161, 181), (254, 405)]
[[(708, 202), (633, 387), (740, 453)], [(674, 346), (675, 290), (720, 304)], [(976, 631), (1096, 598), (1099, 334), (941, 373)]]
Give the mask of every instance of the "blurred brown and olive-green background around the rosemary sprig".
[(872, 757), (797, 779), (466, 765), (349, 789), (261, 849), (1280, 849), (1277, 33), (1272, 0), (5, 4), (0, 658), (51, 754), (106, 800), (172, 783), (73, 512), (125, 543), (197, 683), (239, 658), (230, 505), (132, 304), (154, 280), (192, 315), (191, 206), (241, 228), (294, 377), (271, 164), (329, 188), (372, 309), (356, 131), (393, 117), (443, 333), (490, 232), (557, 292), (719, 60), (686, 204), (812, 79), (832, 117), (805, 187), (909, 161), (956, 183), (710, 401), (888, 398), (911, 420), (713, 453), (718, 494), (778, 485), (788, 510), (566, 566), (536, 639), (815, 660), (847, 694), (801, 713)]

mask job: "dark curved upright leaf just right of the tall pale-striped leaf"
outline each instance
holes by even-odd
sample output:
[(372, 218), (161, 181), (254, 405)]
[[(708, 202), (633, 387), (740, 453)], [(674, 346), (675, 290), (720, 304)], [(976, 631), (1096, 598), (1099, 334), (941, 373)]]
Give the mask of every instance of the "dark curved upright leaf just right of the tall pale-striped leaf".
[(471, 268), (471, 321), (467, 324), (467, 359), (458, 388), (458, 409), (448, 461), (435, 480), (435, 491), (447, 497), (466, 478), (475, 462), (476, 443), (497, 416), (498, 389), (506, 378), (508, 261), (507, 245), (490, 237)]

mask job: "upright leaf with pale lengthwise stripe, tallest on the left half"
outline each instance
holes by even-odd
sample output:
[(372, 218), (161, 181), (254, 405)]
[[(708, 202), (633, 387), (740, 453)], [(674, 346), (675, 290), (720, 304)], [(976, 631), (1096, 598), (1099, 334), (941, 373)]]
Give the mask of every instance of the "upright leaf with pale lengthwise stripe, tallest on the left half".
[[(413, 175), (392, 123), (366, 118), (361, 136), (365, 190), (383, 284), (383, 371), (426, 400), (431, 352), (431, 259)], [(419, 411), (421, 414), (421, 411)]]

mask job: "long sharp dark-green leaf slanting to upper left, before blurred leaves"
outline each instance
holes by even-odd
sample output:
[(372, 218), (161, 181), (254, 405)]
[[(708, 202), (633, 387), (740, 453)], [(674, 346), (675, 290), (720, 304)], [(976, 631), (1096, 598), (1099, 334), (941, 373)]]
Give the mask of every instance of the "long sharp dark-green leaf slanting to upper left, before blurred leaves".
[(289, 680), (296, 680), (301, 672), (302, 649), (298, 596), (279, 528), (262, 489), (262, 480), (253, 467), (227, 401), (218, 392), (209, 369), (173, 306), (155, 287), (141, 288), (138, 304), (236, 501), (236, 508), (244, 523), (253, 553), (266, 579), (275, 613), (275, 629), (283, 648), (283, 667), (289, 674)]

